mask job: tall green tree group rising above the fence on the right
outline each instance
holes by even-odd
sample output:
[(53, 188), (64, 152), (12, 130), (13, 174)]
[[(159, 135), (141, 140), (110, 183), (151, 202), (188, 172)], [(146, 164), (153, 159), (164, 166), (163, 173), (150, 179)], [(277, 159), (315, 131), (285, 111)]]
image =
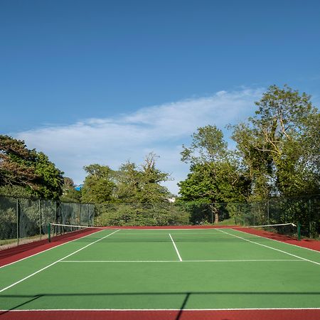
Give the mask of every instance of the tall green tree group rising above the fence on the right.
[(230, 150), (215, 126), (201, 127), (182, 161), (190, 174), (179, 183), (183, 201), (235, 202), (319, 193), (320, 115), (311, 97), (269, 87), (247, 122), (236, 124)]

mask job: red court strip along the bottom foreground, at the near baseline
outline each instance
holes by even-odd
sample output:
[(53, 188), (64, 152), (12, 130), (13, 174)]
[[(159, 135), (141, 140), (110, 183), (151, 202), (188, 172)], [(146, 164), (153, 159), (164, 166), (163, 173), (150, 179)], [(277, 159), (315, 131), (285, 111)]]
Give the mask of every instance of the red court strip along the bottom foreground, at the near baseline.
[(2, 320), (318, 320), (319, 308), (270, 309), (83, 309), (83, 310), (13, 310), (4, 311)]

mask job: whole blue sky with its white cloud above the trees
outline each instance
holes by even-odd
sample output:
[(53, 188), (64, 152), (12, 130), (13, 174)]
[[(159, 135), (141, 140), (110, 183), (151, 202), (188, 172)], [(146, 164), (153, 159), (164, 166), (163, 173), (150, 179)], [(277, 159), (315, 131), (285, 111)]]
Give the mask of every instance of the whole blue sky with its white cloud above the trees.
[(197, 127), (244, 121), (272, 84), (319, 106), (319, 16), (313, 0), (2, 0), (0, 134), (75, 183), (154, 151), (177, 193)]

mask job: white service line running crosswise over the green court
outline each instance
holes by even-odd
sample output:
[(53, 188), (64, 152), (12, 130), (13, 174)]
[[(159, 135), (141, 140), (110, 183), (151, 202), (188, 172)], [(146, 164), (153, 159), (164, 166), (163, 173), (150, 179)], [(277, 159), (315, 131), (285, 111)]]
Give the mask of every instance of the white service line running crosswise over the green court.
[(258, 260), (258, 259), (250, 259), (250, 260), (63, 260), (60, 262), (305, 262), (301, 259), (265, 259), (265, 260)]

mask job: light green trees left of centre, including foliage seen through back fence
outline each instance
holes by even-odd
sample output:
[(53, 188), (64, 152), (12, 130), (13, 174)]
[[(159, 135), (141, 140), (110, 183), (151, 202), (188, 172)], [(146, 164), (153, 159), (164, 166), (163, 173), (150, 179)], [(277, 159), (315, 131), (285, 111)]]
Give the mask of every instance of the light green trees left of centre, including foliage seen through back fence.
[[(149, 154), (144, 164), (137, 166), (128, 161), (120, 166), (119, 171), (106, 169), (105, 178), (112, 188), (97, 188), (102, 176), (100, 167), (87, 176), (82, 194), (90, 189), (90, 193), (99, 190), (92, 202), (100, 203), (97, 208), (97, 223), (102, 225), (169, 225), (188, 221), (188, 213), (169, 203), (171, 193), (161, 183), (169, 179), (169, 174), (156, 168), (156, 155)], [(91, 167), (90, 167), (91, 168)], [(97, 170), (99, 169), (99, 170)], [(90, 178), (90, 183), (87, 180)], [(89, 192), (88, 192), (89, 194)], [(104, 198), (105, 197), (105, 198)], [(89, 198), (87, 198), (89, 199)], [(103, 200), (104, 201), (101, 201)]]

